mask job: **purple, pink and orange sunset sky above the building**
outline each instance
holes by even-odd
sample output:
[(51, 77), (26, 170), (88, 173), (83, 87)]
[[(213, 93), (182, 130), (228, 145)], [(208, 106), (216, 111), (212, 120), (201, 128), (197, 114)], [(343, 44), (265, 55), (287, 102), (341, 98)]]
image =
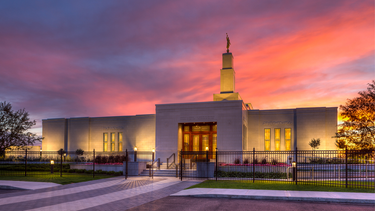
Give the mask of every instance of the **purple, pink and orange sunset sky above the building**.
[(0, 101), (35, 133), (212, 101), (228, 33), (254, 109), (338, 107), (375, 78), (374, 17), (374, 0), (2, 1)]

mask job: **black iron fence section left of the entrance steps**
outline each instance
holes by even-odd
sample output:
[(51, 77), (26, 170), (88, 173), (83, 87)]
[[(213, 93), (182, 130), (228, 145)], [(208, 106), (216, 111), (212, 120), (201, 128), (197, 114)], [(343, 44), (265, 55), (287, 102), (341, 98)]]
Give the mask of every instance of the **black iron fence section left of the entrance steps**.
[[(153, 177), (154, 152), (0, 152), (2, 176)], [(160, 165), (159, 165), (160, 166)]]

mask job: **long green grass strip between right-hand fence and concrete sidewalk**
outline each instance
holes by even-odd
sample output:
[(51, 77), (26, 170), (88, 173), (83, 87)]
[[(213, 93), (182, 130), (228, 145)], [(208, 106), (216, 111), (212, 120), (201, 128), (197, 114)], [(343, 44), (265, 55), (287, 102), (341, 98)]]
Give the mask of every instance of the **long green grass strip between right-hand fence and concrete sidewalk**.
[[(228, 189), (255, 189), (255, 190), (300, 190), (300, 191), (327, 191), (327, 192), (357, 192), (357, 193), (374, 193), (374, 190), (363, 188), (345, 188), (344, 187), (324, 187), (314, 185), (296, 185), (296, 184), (281, 184), (277, 181), (272, 181), (273, 184), (264, 183), (262, 181), (247, 182), (247, 181), (211, 181), (207, 180), (199, 184), (190, 186), (190, 188), (228, 188)], [(318, 184), (317, 184), (318, 185)], [(319, 184), (320, 185), (320, 184)], [(323, 184), (324, 185), (324, 184)], [(372, 184), (374, 185), (374, 184)]]

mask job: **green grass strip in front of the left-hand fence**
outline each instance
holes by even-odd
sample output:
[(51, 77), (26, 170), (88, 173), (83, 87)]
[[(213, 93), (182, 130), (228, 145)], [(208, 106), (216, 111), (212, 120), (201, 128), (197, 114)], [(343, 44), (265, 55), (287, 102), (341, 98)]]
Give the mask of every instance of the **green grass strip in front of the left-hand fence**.
[(104, 177), (78, 177), (78, 176), (0, 176), (0, 180), (12, 180), (12, 181), (28, 181), (28, 182), (53, 182), (61, 185), (86, 182), (95, 179), (103, 179)]

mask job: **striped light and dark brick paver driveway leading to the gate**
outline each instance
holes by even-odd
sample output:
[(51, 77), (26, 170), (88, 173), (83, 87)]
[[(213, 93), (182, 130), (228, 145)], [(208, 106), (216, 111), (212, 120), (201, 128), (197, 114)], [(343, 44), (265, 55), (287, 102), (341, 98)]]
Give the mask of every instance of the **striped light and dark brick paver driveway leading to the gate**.
[(177, 193), (200, 181), (107, 178), (0, 195), (0, 211), (117, 211)]

